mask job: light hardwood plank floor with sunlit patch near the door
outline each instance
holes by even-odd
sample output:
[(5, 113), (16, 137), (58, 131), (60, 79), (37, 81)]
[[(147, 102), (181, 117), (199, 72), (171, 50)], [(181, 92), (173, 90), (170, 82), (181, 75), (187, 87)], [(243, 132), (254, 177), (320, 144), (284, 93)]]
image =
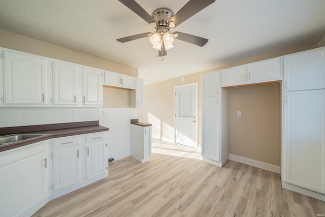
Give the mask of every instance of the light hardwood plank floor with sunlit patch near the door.
[(322, 216), (325, 202), (281, 188), (280, 175), (152, 140), (152, 157), (109, 165), (109, 176), (48, 202), (33, 216)]

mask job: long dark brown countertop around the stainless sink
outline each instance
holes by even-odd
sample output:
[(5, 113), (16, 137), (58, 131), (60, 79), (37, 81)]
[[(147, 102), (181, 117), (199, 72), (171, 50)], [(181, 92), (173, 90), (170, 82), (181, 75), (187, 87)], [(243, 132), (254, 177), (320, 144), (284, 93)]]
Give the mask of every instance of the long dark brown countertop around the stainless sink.
[(23, 126), (23, 127), (12, 127), (12, 128), (1, 128), (1, 135), (9, 134), (49, 134), (41, 138), (30, 139), (28, 141), (16, 142), (14, 144), (0, 146), (0, 152), (18, 148), (21, 146), (29, 145), (35, 142), (41, 142), (44, 140), (74, 136), (87, 133), (96, 133), (102, 131), (109, 131), (108, 128), (99, 125), (99, 121), (86, 121), (76, 123), (57, 123), (54, 125), (36, 125), (36, 126)]

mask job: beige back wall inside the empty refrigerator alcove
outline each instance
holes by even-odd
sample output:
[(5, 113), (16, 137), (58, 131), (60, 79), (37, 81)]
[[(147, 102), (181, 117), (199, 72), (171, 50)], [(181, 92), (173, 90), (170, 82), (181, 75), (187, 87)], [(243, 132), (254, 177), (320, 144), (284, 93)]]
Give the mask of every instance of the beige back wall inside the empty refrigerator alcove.
[(280, 166), (280, 84), (229, 89), (229, 150)]

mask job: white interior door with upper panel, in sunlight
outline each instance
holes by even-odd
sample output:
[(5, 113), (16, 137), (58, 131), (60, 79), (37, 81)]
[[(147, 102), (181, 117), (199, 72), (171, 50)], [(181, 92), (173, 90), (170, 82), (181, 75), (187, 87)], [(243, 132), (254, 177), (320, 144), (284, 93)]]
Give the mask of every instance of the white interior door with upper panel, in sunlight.
[(197, 84), (175, 88), (175, 142), (197, 148)]

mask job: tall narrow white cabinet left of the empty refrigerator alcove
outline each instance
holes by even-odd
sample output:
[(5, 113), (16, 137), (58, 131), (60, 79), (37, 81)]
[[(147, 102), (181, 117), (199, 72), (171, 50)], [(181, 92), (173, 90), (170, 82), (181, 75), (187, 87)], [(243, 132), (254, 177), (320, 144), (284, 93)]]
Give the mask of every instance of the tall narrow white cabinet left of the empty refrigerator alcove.
[(229, 159), (228, 111), (220, 71), (202, 75), (202, 157), (219, 167)]

